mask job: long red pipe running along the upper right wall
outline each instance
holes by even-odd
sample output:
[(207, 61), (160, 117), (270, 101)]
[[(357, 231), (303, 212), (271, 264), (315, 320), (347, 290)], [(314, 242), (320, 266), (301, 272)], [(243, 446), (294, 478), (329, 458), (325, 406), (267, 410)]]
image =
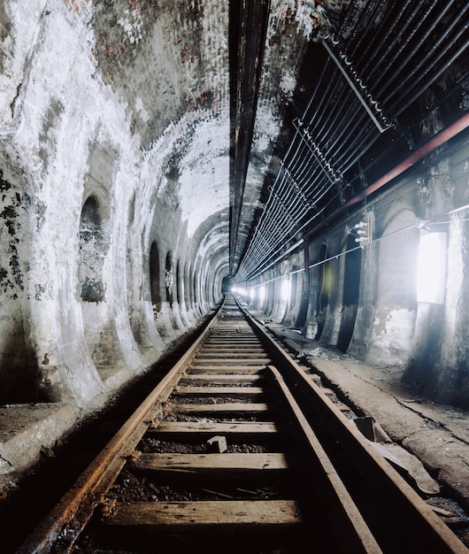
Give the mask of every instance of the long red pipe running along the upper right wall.
[(433, 150), (436, 150), (439, 146), (442, 146), (442, 144), (448, 142), (458, 133), (464, 131), (467, 127), (469, 127), (469, 113), (466, 113), (461, 119), (457, 119), (455, 123), (450, 125), (450, 127), (444, 129), (441, 133), (438, 133), (438, 135), (434, 135), (433, 139), (424, 144), (421, 148), (419, 148), (419, 150), (415, 150), (415, 152), (413, 152), (411, 156), (409, 156), (409, 158), (404, 159), (404, 161), (401, 162), (399, 165), (396, 165), (394, 169), (383, 175), (381, 179), (378, 179), (378, 181), (374, 181), (372, 185), (366, 187), (366, 189), (363, 189), (360, 193), (358, 193), (357, 196), (350, 198), (349, 202), (343, 204), (332, 215), (330, 215), (326, 219), (323, 219), (319, 223), (319, 225), (312, 228), (311, 231), (308, 231), (308, 233), (304, 235), (304, 239), (310, 239), (312, 235), (319, 231), (319, 229), (328, 225), (342, 212), (347, 210), (347, 208), (350, 208), (350, 206), (357, 204), (358, 202), (360, 202), (360, 200), (365, 200), (367, 196), (370, 196), (376, 190), (381, 189), (381, 187), (386, 185), (389, 181), (396, 179), (396, 177), (404, 173), (406, 169), (409, 169), (409, 167), (419, 162), (422, 158), (425, 158), (430, 152), (433, 152)]

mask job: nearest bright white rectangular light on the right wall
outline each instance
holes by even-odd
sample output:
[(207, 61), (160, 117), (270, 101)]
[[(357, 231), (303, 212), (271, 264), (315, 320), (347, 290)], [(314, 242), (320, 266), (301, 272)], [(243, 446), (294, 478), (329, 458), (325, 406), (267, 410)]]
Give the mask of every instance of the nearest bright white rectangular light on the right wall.
[(421, 233), (417, 266), (417, 302), (444, 304), (447, 233)]

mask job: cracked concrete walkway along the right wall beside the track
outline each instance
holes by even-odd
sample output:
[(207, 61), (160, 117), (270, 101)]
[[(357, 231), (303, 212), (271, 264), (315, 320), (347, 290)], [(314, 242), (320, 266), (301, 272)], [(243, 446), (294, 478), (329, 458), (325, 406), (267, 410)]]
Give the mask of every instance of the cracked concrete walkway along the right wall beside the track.
[(288, 345), (297, 361), (318, 373), (342, 403), (360, 416), (372, 417), (393, 442), (418, 458), (440, 483), (442, 495), (469, 512), (469, 412), (412, 394), (400, 382), (403, 367), (366, 365), (305, 339), (294, 328), (265, 319), (264, 325)]

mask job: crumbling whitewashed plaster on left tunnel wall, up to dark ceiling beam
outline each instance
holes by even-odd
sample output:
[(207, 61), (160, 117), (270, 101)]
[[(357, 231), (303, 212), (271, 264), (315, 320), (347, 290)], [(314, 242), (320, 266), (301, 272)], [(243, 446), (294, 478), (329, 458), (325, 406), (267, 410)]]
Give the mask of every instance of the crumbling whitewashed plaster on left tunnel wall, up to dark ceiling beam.
[[(2, 191), (17, 204), (14, 223), (5, 216), (0, 231), (6, 402), (100, 404), (219, 301), (229, 202), (227, 6), (207, 3), (194, 17), (186, 3), (181, 12), (159, 4), (4, 4)], [(101, 260), (80, 239), (90, 196), (102, 211)], [(166, 302), (160, 285), (163, 335), (150, 297), (154, 241), (160, 267), (172, 259), (168, 298), (183, 296)], [(81, 298), (87, 264), (100, 265), (96, 302)], [(178, 264), (190, 267), (179, 283)], [(177, 288), (194, 279), (198, 302)], [(15, 327), (12, 348), (5, 342)], [(12, 396), (18, 380), (24, 398)]]

